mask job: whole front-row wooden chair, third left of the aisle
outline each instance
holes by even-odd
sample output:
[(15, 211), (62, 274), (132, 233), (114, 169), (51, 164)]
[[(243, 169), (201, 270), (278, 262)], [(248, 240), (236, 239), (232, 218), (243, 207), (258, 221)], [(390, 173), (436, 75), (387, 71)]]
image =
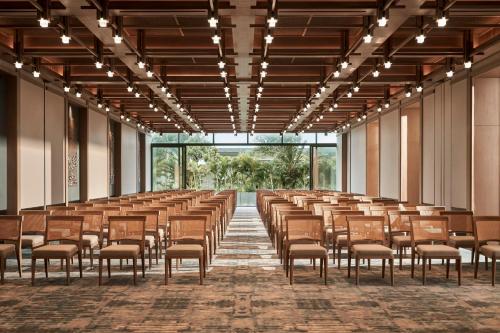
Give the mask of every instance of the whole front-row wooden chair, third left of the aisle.
[[(31, 253), (31, 284), (35, 285), (36, 260), (43, 259), (45, 277), (48, 278), (49, 259), (66, 260), (66, 285), (70, 282), (70, 261), (78, 255), (78, 268), (82, 277), (82, 216), (47, 216), (45, 244)], [(53, 244), (59, 242), (59, 244)]]

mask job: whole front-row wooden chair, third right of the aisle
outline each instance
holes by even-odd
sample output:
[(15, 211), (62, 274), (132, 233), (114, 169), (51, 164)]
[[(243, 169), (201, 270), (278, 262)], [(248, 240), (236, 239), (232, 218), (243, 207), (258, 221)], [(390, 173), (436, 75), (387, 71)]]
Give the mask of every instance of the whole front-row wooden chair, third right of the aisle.
[[(429, 259), (446, 259), (446, 278), (450, 276), (450, 259), (455, 260), (458, 285), (462, 277), (462, 257), (458, 249), (448, 246), (448, 218), (446, 216), (411, 216), (411, 277), (414, 276), (415, 255), (422, 258), (422, 284), (425, 284), (425, 264)], [(436, 244), (438, 243), (438, 244)]]

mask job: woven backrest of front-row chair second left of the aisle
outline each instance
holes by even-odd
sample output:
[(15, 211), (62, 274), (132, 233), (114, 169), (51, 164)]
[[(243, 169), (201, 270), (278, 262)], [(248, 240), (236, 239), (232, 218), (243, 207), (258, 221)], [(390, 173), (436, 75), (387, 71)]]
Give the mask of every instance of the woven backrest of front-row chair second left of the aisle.
[(108, 223), (108, 245), (127, 240), (144, 246), (146, 216), (109, 216)]

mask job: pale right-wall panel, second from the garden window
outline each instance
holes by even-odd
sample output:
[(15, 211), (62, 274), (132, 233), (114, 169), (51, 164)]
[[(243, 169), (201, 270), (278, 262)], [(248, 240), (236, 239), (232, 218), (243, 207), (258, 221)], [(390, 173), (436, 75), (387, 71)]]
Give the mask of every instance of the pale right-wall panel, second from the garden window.
[(380, 196), (400, 197), (400, 137), (401, 122), (398, 110), (380, 117)]

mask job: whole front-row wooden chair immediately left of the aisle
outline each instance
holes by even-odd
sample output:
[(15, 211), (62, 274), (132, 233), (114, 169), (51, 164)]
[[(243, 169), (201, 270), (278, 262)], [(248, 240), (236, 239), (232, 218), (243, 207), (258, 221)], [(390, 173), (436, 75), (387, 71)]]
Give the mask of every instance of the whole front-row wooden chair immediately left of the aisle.
[(172, 259), (198, 259), (200, 284), (206, 275), (206, 216), (170, 216), (168, 227), (169, 246), (165, 251), (165, 285), (172, 277)]

